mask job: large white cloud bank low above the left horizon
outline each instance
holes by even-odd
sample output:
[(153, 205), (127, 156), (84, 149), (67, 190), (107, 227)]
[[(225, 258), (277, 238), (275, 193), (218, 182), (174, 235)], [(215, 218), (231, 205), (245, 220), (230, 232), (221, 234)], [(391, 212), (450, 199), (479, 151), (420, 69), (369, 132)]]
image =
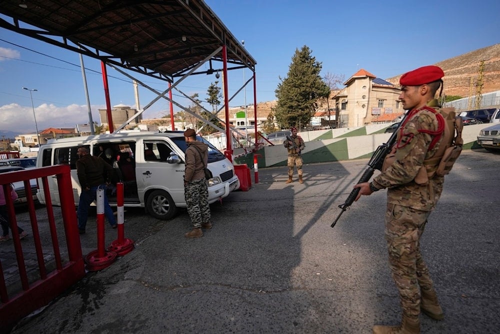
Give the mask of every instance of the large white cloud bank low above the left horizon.
[[(90, 106), (92, 121), (99, 124), (101, 105)], [(88, 124), (88, 108), (86, 105), (71, 104), (66, 107), (56, 107), (53, 104), (43, 103), (34, 107), (38, 131), (46, 128), (74, 128), (76, 124)], [(0, 106), (0, 130), (24, 133), (35, 133), (33, 109), (29, 106), (20, 106), (17, 103)]]

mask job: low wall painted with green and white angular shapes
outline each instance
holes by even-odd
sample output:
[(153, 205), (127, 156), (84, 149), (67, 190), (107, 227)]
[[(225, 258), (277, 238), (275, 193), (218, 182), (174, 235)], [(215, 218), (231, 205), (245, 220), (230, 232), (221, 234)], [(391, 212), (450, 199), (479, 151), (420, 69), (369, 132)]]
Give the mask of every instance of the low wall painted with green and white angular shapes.
[[(492, 124), (476, 124), (463, 127), (463, 148), (479, 148), (476, 137), (479, 130)], [(341, 128), (303, 132), (299, 135), (305, 142), (302, 152), (304, 163), (342, 161), (370, 158), (375, 149), (385, 143), (390, 133), (383, 133), (387, 124), (376, 124), (357, 128)], [(234, 155), (243, 154), (243, 149), (235, 149)], [(253, 167), (253, 154), (234, 159), (236, 164)], [(258, 167), (286, 166), (286, 149), (283, 145), (264, 146), (255, 152), (259, 154)]]

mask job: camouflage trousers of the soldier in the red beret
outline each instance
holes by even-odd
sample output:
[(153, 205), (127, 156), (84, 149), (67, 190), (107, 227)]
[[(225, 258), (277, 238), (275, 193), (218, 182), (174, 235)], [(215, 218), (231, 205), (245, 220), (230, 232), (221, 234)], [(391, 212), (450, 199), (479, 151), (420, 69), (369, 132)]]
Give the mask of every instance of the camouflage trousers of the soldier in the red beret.
[(387, 204), (385, 212), (385, 240), (392, 279), (399, 292), (403, 315), (413, 319), (420, 313), (420, 289), (433, 290), (419, 243), (429, 214), (430, 211), (396, 204)]

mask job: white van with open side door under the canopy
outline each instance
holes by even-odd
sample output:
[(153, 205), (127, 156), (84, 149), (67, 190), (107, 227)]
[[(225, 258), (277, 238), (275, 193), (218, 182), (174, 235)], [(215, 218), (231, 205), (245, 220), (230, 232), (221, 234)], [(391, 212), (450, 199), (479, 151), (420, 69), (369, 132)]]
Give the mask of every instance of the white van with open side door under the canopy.
[[(239, 189), (239, 180), (232, 163), (212, 144), (208, 145), (208, 165), (213, 178), (208, 180), (208, 202), (213, 203)], [(76, 150), (84, 146), (91, 155), (103, 158), (113, 166), (114, 185), (124, 184), (124, 206), (144, 207), (158, 219), (172, 218), (178, 207), (185, 207), (184, 152), (187, 145), (182, 132), (124, 132), (107, 135), (50, 139), (41, 145), (36, 167), (67, 164), (71, 168), (71, 181), (75, 205), (78, 205), (80, 185), (76, 176)], [(60, 205), (57, 182), (48, 177), (49, 193), (53, 205)], [(43, 183), (37, 197), (45, 203)], [(111, 205), (116, 205), (116, 187), (110, 186), (106, 194)]]

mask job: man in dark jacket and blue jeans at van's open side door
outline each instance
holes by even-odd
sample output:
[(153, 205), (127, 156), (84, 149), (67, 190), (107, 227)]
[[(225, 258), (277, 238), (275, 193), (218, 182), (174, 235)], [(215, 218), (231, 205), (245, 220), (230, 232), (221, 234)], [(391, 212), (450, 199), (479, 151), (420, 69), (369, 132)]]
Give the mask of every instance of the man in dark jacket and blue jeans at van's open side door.
[[(87, 224), (88, 207), (97, 198), (97, 189), (105, 188), (111, 181), (113, 167), (102, 158), (94, 157), (89, 154), (86, 147), (78, 147), (76, 151), (78, 160), (76, 160), (76, 175), (81, 186), (80, 201), (76, 215), (78, 217), (78, 231), (85, 233)], [(107, 202), (107, 196), (104, 192), (104, 215), (112, 228), (116, 228), (116, 219), (113, 210)]]

